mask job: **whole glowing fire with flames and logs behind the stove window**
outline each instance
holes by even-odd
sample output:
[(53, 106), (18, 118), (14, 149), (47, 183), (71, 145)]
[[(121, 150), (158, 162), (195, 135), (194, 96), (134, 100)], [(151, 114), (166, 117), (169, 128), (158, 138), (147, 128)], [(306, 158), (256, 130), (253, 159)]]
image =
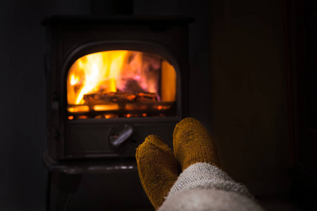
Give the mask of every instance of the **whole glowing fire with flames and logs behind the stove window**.
[[(175, 102), (175, 97), (175, 68), (160, 56), (150, 53), (91, 53), (78, 58), (68, 72), (69, 113), (146, 110), (151, 108), (147, 103)], [(153, 109), (170, 108), (155, 105)], [(128, 114), (126, 117), (134, 115)]]

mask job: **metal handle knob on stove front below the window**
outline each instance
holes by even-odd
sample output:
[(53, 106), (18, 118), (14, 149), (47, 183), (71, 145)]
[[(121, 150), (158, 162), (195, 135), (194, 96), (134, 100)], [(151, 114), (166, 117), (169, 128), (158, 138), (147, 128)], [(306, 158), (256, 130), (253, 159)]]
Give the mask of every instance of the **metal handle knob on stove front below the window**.
[[(121, 126), (122, 127), (122, 126)], [(133, 127), (129, 124), (124, 124), (123, 129), (118, 132), (118, 127), (115, 129), (116, 132), (110, 134), (110, 143), (112, 146), (118, 148), (125, 141), (128, 141), (133, 135)]]

